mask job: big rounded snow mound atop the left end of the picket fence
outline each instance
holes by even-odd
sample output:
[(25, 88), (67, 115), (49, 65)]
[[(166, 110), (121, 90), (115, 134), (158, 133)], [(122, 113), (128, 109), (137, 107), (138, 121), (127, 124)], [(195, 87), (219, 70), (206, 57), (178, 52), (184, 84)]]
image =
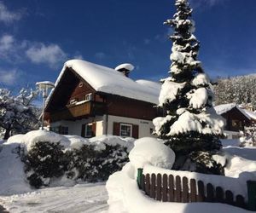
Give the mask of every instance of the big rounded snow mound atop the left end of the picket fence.
[(135, 168), (143, 168), (146, 164), (152, 164), (160, 168), (171, 169), (175, 160), (175, 153), (171, 148), (164, 145), (163, 141), (144, 137), (135, 141), (129, 158)]

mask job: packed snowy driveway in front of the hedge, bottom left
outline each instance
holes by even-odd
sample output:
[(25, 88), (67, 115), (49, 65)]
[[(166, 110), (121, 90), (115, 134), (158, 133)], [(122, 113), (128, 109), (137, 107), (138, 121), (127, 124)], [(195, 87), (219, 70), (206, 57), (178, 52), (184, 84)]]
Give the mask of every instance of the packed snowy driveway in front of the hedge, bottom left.
[(79, 184), (74, 187), (51, 187), (33, 193), (0, 196), (0, 204), (10, 213), (88, 212), (108, 210), (105, 184)]

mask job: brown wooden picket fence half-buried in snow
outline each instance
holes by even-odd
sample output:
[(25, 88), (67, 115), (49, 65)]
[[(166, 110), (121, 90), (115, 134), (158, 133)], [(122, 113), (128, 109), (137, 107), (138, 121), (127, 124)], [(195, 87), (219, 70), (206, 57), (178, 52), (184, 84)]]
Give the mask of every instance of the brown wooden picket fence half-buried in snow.
[[(180, 176), (167, 176), (158, 174), (141, 174), (137, 180), (139, 187), (150, 198), (162, 202), (208, 202), (235, 205), (247, 209), (247, 203), (240, 194), (234, 195), (230, 190), (224, 191), (222, 187), (213, 187), (211, 183), (195, 181)], [(190, 190), (189, 190), (190, 189)]]

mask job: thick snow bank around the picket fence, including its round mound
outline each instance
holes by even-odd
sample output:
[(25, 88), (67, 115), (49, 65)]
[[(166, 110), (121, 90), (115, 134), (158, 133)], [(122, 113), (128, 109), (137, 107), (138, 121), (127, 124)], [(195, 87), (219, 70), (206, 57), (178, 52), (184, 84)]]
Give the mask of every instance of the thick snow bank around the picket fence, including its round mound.
[[(142, 149), (141, 147), (145, 147)], [(143, 168), (143, 173), (162, 173), (174, 176), (187, 176), (211, 182), (215, 187), (221, 186), (235, 194), (242, 194), (247, 199), (247, 180), (256, 180), (256, 161), (241, 158), (246, 155), (247, 149), (237, 149), (231, 152), (232, 147), (225, 147), (222, 155), (216, 158), (226, 165), (225, 173), (228, 176), (210, 176), (189, 171), (170, 170), (173, 163), (168, 147), (155, 139), (140, 139), (135, 141), (135, 147), (129, 155), (130, 162), (123, 170), (115, 172), (107, 181), (108, 213), (241, 213), (250, 212), (228, 204), (213, 203), (162, 203), (149, 199), (137, 187), (137, 168)], [(244, 153), (245, 151), (245, 153)], [(256, 153), (256, 149), (255, 149)], [(171, 161), (168, 161), (171, 160)], [(166, 168), (167, 170), (163, 169)]]

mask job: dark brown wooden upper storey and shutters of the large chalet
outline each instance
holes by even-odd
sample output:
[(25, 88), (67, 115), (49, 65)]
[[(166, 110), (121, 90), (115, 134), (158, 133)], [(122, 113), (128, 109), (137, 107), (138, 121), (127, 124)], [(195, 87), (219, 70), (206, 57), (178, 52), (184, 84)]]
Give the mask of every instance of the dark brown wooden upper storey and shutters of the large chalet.
[[(90, 99), (87, 100), (88, 95), (90, 95)], [(49, 124), (63, 120), (77, 121), (83, 118), (94, 120), (96, 117), (102, 117), (103, 119), (103, 115), (142, 119), (150, 122), (157, 117), (157, 108), (153, 103), (97, 92), (71, 68), (67, 68), (62, 75), (49, 99), (45, 112), (48, 115)], [(139, 126), (131, 124), (131, 121), (114, 122), (113, 135), (120, 134), (120, 124), (131, 125), (131, 136), (139, 137)], [(86, 135), (85, 126), (86, 124), (83, 124), (82, 127), (79, 127), (82, 136)], [(92, 136), (96, 135), (96, 125), (93, 125), (93, 128)], [(148, 128), (148, 133), (149, 131)]]

